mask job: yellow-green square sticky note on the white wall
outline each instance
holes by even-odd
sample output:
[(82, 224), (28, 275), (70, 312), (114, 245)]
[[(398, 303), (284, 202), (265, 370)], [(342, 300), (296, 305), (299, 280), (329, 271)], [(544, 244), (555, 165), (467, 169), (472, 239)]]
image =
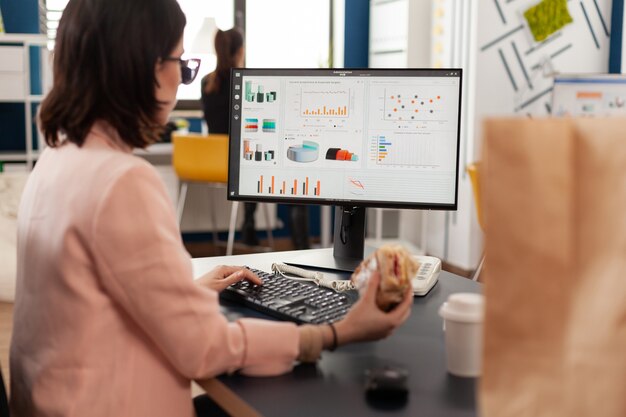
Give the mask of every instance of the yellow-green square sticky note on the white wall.
[(574, 21), (567, 10), (567, 0), (543, 0), (526, 10), (524, 18), (537, 42)]

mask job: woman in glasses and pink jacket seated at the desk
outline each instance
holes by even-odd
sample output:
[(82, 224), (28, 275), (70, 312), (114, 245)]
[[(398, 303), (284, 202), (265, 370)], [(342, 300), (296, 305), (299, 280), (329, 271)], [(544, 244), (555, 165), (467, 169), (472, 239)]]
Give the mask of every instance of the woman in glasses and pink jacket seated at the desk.
[(63, 13), (40, 111), (49, 146), (18, 216), (14, 416), (193, 416), (192, 379), (286, 372), (385, 337), (410, 313), (408, 293), (391, 313), (376, 308), (376, 278), (334, 329), (228, 323), (218, 291), (258, 277), (222, 266), (193, 281), (165, 186), (132, 154), (195, 75), (184, 26), (176, 0), (70, 0)]

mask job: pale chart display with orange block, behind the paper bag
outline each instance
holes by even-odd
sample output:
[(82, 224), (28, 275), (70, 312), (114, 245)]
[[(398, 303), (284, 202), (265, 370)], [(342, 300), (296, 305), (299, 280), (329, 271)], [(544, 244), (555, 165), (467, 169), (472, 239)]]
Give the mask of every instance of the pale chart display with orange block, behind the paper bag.
[(553, 116), (602, 117), (624, 114), (625, 74), (561, 74), (554, 78)]

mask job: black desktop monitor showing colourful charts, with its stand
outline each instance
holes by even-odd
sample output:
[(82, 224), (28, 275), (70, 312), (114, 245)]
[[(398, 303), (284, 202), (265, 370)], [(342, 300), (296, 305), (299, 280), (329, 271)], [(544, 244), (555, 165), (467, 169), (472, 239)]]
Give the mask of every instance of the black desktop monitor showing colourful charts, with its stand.
[(456, 210), (461, 80), (461, 69), (233, 69), (228, 198), (337, 206), (333, 268), (353, 269), (365, 207)]

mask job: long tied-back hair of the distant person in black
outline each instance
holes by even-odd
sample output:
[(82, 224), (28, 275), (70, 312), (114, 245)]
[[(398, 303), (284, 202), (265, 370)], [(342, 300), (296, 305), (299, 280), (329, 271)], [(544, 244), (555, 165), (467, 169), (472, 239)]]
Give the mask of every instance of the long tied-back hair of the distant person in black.
[(226, 31), (219, 30), (215, 34), (215, 54), (217, 67), (208, 75), (205, 86), (206, 93), (218, 93), (220, 84), (228, 79), (230, 69), (236, 66), (235, 55), (243, 46), (243, 33), (239, 28)]

